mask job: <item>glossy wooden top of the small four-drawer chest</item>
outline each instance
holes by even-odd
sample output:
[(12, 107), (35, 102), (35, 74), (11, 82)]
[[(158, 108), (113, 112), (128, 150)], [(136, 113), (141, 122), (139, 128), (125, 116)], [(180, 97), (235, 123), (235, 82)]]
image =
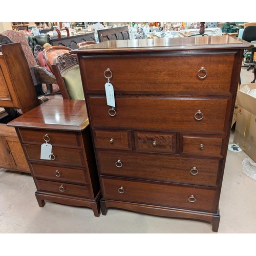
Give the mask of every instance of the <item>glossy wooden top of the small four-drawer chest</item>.
[(52, 99), (8, 123), (8, 126), (82, 131), (89, 125), (84, 100)]

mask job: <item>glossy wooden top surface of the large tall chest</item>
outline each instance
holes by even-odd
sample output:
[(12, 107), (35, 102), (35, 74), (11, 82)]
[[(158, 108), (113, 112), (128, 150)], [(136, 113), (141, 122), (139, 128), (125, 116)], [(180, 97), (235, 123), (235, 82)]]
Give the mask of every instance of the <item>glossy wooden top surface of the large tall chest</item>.
[(252, 44), (232, 36), (194, 36), (183, 38), (129, 39), (103, 41), (99, 44), (80, 48), (71, 53), (105, 53), (105, 52), (154, 52), (177, 50), (214, 50), (214, 49), (246, 49)]

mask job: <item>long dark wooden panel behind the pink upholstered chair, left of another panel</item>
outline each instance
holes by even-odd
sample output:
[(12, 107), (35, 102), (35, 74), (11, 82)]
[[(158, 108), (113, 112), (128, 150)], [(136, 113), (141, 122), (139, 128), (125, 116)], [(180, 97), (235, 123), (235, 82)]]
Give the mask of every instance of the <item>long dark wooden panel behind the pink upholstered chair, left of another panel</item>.
[(50, 44), (52, 46), (67, 46), (71, 49), (77, 49), (79, 42), (84, 41), (95, 41), (94, 32), (89, 32), (86, 34), (72, 35), (61, 38), (51, 38)]

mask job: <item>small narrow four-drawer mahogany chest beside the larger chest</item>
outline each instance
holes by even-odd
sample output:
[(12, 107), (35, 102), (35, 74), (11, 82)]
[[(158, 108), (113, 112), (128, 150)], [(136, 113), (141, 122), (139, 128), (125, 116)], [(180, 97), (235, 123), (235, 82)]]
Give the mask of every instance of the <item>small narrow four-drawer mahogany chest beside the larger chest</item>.
[[(100, 215), (96, 162), (84, 100), (53, 99), (14, 119), (40, 207), (45, 200), (86, 206)], [(41, 159), (41, 144), (52, 145)]]

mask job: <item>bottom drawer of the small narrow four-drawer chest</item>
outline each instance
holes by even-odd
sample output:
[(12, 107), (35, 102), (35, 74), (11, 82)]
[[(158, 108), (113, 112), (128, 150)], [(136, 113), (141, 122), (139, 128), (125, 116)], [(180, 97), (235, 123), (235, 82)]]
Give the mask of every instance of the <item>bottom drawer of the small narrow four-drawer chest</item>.
[(36, 184), (40, 191), (48, 191), (77, 197), (90, 197), (90, 189), (87, 186), (38, 179), (36, 179)]

